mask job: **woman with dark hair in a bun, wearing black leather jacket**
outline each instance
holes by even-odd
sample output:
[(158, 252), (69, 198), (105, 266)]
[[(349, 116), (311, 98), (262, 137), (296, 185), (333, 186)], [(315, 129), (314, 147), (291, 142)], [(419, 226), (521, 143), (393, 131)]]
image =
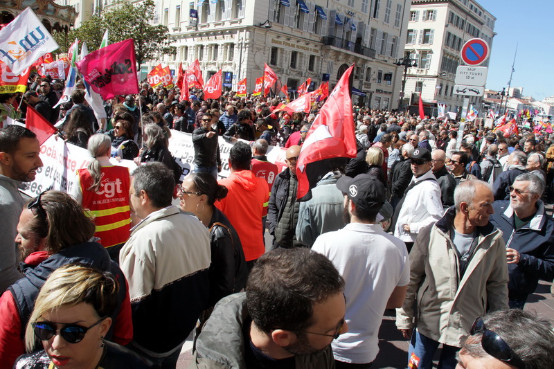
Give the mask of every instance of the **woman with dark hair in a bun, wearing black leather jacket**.
[(213, 307), (221, 298), (243, 289), (248, 276), (238, 234), (224, 213), (213, 205), (215, 200), (226, 197), (227, 188), (217, 184), (208, 172), (197, 172), (185, 177), (177, 195), (181, 210), (196, 215), (210, 230), (212, 262), (208, 306)]

